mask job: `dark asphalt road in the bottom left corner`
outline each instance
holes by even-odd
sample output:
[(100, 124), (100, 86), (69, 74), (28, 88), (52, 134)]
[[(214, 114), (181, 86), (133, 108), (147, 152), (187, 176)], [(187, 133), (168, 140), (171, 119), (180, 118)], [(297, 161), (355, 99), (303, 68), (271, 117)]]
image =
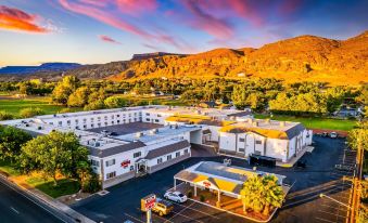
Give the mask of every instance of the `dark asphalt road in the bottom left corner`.
[(64, 222), (0, 180), (0, 222)]

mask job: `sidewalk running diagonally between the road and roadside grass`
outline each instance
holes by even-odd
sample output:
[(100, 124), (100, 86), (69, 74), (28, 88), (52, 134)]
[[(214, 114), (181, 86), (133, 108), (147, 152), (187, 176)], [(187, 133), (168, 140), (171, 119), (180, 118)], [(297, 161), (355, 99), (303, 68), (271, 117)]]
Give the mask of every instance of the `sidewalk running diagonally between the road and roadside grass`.
[[(68, 206), (60, 202), (56, 199), (43, 194), (37, 188), (31, 188), (24, 184), (15, 184), (13, 181), (9, 180), (7, 176), (0, 174), (0, 181), (9, 185), (15, 191), (23, 193), (28, 199), (37, 200), (40, 205), (45, 205), (52, 210), (53, 214), (62, 219), (65, 222), (83, 222), (83, 223), (93, 223), (94, 221), (88, 219), (87, 217), (80, 214), (79, 212), (73, 210)], [(51, 211), (50, 210), (50, 211)], [(56, 213), (56, 214), (55, 214)]]

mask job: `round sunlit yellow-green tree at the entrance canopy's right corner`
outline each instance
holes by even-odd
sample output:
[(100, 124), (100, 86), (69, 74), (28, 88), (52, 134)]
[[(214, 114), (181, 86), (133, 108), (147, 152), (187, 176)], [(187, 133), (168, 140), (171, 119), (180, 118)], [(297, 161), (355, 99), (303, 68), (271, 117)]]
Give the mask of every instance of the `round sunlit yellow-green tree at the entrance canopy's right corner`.
[(275, 175), (249, 178), (240, 192), (243, 211), (249, 209), (269, 215), (274, 208), (280, 208), (284, 198), (282, 187)]

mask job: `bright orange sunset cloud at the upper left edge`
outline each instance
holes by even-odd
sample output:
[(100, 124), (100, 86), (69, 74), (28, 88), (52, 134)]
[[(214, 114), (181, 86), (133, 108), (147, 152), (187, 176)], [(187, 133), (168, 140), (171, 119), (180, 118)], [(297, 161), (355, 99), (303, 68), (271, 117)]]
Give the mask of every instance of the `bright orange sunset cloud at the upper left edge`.
[(38, 15), (28, 14), (22, 10), (0, 5), (0, 28), (8, 30), (46, 34), (50, 30), (40, 26)]

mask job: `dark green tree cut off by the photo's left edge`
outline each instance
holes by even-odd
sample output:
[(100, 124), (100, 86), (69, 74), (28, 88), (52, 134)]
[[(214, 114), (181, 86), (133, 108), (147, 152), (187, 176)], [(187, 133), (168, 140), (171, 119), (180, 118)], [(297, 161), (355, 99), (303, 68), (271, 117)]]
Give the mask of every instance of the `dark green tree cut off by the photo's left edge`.
[(31, 140), (30, 134), (14, 127), (0, 126), (0, 159), (14, 161), (23, 144)]

